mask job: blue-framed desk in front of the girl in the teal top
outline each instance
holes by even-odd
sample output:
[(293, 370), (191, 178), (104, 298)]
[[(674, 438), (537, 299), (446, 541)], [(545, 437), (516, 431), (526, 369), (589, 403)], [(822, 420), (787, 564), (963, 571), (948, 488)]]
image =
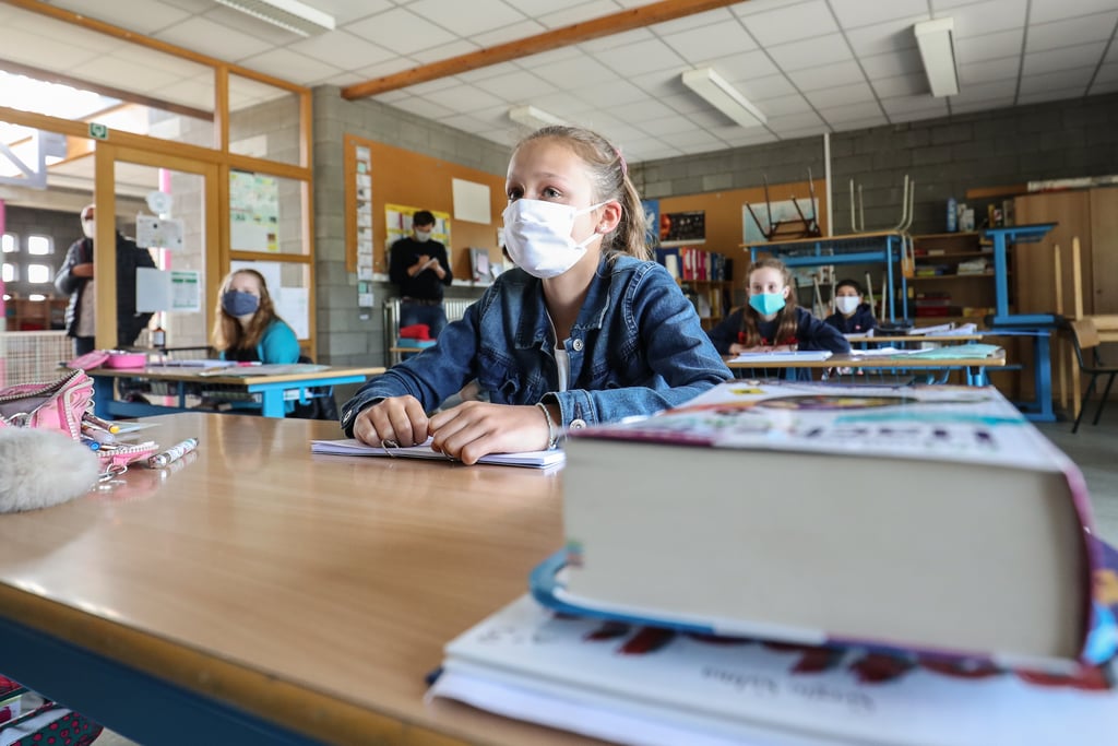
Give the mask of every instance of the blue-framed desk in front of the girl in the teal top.
[[(224, 385), (244, 389), (248, 394), (260, 395), (262, 413), (265, 417), (283, 417), (284, 399), (287, 391), (296, 391), (305, 397), (306, 389), (312, 386), (337, 386), (339, 384), (360, 384), (370, 376), (385, 372), (382, 367), (369, 368), (325, 368), (307, 372), (291, 372), (278, 375), (222, 376), (209, 375), (203, 368), (157, 367), (146, 368), (94, 368), (87, 371), (93, 378), (94, 405), (100, 417), (150, 417), (158, 414), (171, 414), (188, 410), (187, 394), (203, 385)], [(115, 395), (115, 379), (142, 378), (177, 384), (177, 407), (165, 407), (136, 402), (119, 402)]]

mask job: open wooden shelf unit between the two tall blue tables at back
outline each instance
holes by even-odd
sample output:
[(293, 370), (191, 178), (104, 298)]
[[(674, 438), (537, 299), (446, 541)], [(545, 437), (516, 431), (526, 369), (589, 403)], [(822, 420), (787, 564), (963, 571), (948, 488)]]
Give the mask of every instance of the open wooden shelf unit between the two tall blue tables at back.
[(980, 233), (912, 237), (908, 278), (909, 317), (918, 327), (940, 323), (985, 325), (994, 312), (993, 252)]

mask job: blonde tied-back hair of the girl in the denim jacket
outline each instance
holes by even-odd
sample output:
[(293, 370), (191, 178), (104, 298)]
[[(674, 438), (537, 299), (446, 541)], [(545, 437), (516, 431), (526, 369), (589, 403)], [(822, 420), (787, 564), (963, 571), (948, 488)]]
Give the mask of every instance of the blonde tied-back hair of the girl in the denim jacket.
[(628, 254), (638, 259), (652, 258), (652, 252), (645, 240), (641, 195), (628, 178), (628, 166), (622, 158), (622, 151), (597, 132), (555, 124), (537, 130), (521, 140), (513, 152), (533, 140), (543, 139), (561, 141), (582, 159), (598, 200), (616, 199), (620, 204), (622, 219), (614, 230), (603, 236), (601, 251), (607, 256)]

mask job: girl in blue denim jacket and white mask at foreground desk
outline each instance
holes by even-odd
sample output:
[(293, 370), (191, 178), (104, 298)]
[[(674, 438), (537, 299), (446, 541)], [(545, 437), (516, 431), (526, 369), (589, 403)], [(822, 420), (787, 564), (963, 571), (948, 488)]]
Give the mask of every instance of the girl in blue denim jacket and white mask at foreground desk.
[[(563, 427), (646, 415), (730, 378), (694, 306), (648, 261), (644, 210), (620, 152), (579, 128), (517, 145), (502, 273), (424, 352), (342, 407), (347, 435), (475, 463), (557, 446)], [(489, 402), (427, 416), (476, 379)], [(513, 406), (510, 406), (513, 405)]]

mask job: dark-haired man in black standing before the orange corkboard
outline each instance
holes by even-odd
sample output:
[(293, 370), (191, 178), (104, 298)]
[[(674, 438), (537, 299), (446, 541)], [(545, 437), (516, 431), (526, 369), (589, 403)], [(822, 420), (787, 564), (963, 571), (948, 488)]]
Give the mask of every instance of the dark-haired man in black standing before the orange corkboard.
[(390, 249), (388, 276), (400, 292), (400, 327), (427, 324), (433, 339), (446, 325), (443, 287), (454, 280), (446, 246), (432, 240), (435, 216), (417, 210), (411, 216), (411, 235)]

